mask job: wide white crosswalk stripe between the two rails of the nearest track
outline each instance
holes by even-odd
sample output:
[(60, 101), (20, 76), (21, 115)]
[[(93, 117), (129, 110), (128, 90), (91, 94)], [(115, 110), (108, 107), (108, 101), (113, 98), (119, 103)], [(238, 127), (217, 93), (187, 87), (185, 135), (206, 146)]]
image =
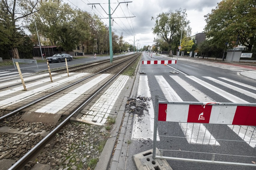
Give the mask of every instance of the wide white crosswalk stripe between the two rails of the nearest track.
[(94, 78), (93, 80), (81, 85), (80, 87), (72, 90), (71, 92), (67, 93), (66, 95), (63, 95), (62, 97), (52, 101), (50, 104), (47, 104), (40, 109), (36, 110), (35, 112), (38, 113), (51, 113), (55, 114), (59, 110), (66, 107), (68, 104), (70, 104), (72, 101), (74, 101), (76, 98), (84, 94), (87, 90), (107, 78), (109, 74), (102, 74), (98, 77)]

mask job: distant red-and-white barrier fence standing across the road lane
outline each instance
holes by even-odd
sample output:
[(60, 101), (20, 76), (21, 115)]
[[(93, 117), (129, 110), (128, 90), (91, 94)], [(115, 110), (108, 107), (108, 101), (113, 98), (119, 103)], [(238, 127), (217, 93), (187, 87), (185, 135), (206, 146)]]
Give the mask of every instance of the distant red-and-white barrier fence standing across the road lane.
[[(178, 60), (142, 60), (141, 61), (141, 72), (176, 72), (177, 70), (177, 61)], [(165, 67), (166, 69), (160, 69), (158, 67), (158, 69), (154, 69), (152, 70), (152, 67), (143, 67), (144, 65), (148, 65), (148, 64), (157, 64), (155, 66), (158, 66), (158, 64), (164, 64), (164, 65), (170, 65), (170, 64), (175, 64), (176, 67), (173, 68), (171, 66), (169, 67)], [(174, 70), (173, 70), (174, 69)]]

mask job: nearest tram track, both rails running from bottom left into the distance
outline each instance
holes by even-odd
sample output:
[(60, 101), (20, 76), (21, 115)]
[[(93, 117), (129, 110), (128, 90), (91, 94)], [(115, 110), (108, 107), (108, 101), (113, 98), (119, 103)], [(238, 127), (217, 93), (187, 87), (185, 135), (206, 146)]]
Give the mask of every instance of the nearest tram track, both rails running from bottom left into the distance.
[[(37, 142), (36, 145), (34, 145), (32, 148), (30, 148), (30, 150), (28, 152), (26, 152), (26, 154), (24, 153), (25, 155), (21, 159), (19, 159), (14, 164), (14, 166), (12, 166), (11, 169), (23, 168), (24, 165), (27, 164), (27, 162), (32, 160), (32, 158), (35, 155), (37, 155), (37, 154), (35, 154), (35, 151), (39, 151), (40, 149), (42, 149), (44, 147), (45, 143), (48, 142), (52, 138), (52, 136), (54, 136), (63, 126), (65, 126), (67, 122), (69, 122), (69, 119), (72, 116), (74, 116), (77, 112), (79, 112), (82, 107), (84, 107), (88, 102), (90, 102), (93, 99), (93, 97), (95, 97), (97, 94), (99, 94), (99, 92), (102, 89), (104, 89), (108, 84), (110, 84), (110, 82), (113, 81), (127, 66), (129, 66), (131, 63), (133, 63), (133, 61), (136, 60), (137, 57), (139, 57), (138, 54), (136, 54), (134, 57), (129, 57), (129, 59), (127, 59), (121, 63), (115, 64), (114, 66), (104, 69), (98, 73), (87, 76), (86, 78), (83, 78), (73, 84), (70, 84), (69, 86), (65, 86), (59, 90), (56, 90), (55, 92), (52, 92), (48, 95), (38, 98), (35, 101), (29, 102), (28, 104), (23, 105), (13, 111), (11, 111), (11, 113), (8, 113), (8, 114), (0, 117), (0, 121), (2, 121), (2, 123), (3, 122), (6, 123), (6, 122), (8, 122), (8, 118), (12, 115), (14, 116), (14, 114), (16, 114), (16, 113), (18, 115), (22, 115), (24, 111), (29, 112), (29, 110), (31, 110), (32, 108), (35, 108), (36, 106), (38, 106), (40, 104), (49, 103), (49, 102), (45, 101), (45, 99), (47, 99), (48, 101), (51, 100), (51, 98), (54, 99), (54, 95), (55, 96), (58, 95), (58, 93), (62, 92), (63, 90), (70, 91), (70, 90), (68, 90), (69, 88), (73, 88), (73, 89), (78, 88), (79, 86), (81, 86), (80, 85), (81, 83), (85, 84), (86, 82), (88, 83), (89, 81), (95, 81), (99, 75), (106, 76), (106, 79), (104, 80), (104, 82), (98, 83), (97, 87), (94, 87), (94, 90), (90, 91), (88, 94), (84, 95), (83, 98), (79, 99), (80, 102), (76, 102), (76, 104), (71, 104), (72, 106), (76, 106), (76, 107), (71, 107), (70, 109), (66, 110), (66, 112), (62, 112), (61, 114), (65, 115), (65, 117), (61, 118), (63, 121), (57, 122), (54, 129), (53, 129), (53, 127), (50, 128), (51, 132), (47, 136), (45, 136), (43, 138), (43, 140), (41, 140), (40, 142)], [(116, 67), (118, 69), (116, 69)], [(15, 120), (15, 122), (17, 122), (17, 120)], [(48, 125), (46, 125), (46, 126), (48, 126)], [(41, 138), (41, 136), (38, 136), (38, 138)]]

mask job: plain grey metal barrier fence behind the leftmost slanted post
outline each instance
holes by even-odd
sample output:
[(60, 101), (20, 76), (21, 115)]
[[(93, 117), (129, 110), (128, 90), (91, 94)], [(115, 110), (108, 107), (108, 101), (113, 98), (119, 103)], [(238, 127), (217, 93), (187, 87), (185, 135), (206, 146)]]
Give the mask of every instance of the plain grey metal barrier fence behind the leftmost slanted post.
[(28, 60), (28, 59), (12, 59), (15, 69), (17, 69), (16, 62), (19, 63), (20, 69), (23, 70), (34, 70), (38, 71), (38, 65), (36, 60)]

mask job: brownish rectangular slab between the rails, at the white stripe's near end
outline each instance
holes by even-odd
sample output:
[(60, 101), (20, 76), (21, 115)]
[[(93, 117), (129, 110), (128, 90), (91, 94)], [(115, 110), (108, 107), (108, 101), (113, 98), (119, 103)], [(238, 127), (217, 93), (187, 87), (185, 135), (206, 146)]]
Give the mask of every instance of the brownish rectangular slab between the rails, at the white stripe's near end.
[(22, 120), (27, 122), (42, 122), (47, 125), (56, 125), (59, 121), (61, 114), (51, 114), (51, 113), (37, 113), (37, 112), (25, 112), (21, 117)]

